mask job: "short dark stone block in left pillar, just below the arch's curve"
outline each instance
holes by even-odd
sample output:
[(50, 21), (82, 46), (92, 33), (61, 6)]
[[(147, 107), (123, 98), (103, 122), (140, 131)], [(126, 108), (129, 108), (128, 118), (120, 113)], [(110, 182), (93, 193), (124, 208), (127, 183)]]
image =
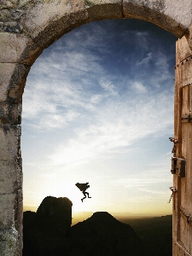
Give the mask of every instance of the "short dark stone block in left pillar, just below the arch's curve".
[(22, 104), (19, 103), (1, 103), (0, 102), (0, 125), (20, 125), (21, 124)]

